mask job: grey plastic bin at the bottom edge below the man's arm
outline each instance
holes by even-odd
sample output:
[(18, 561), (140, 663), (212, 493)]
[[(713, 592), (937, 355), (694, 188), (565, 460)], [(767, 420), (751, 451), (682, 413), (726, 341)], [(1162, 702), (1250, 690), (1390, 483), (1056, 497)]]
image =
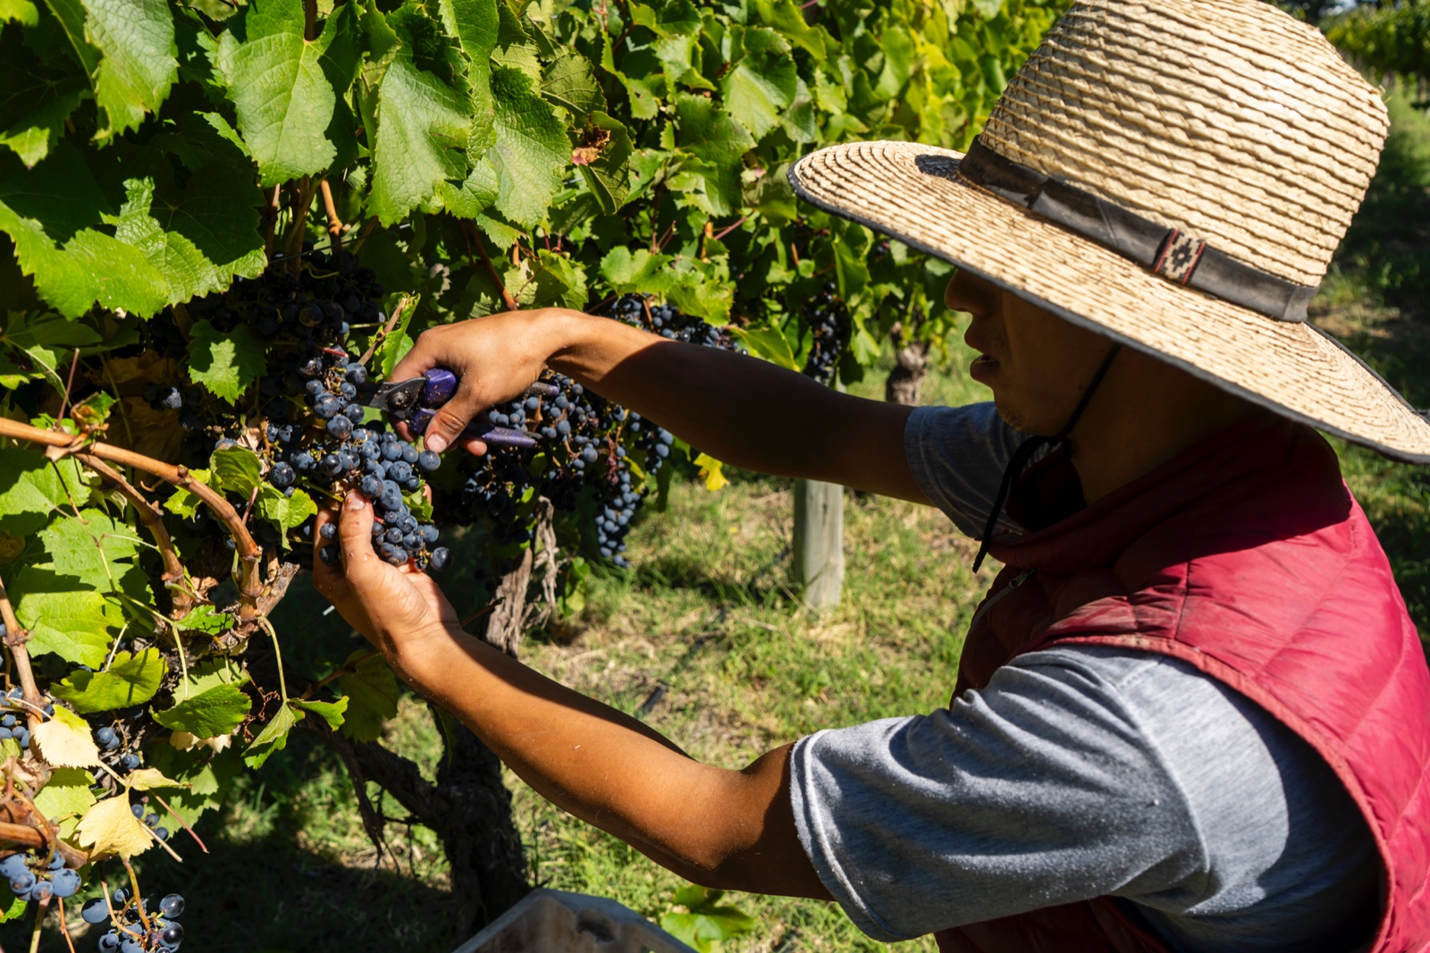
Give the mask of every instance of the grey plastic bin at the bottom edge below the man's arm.
[(532, 890), (453, 953), (695, 953), (609, 897)]

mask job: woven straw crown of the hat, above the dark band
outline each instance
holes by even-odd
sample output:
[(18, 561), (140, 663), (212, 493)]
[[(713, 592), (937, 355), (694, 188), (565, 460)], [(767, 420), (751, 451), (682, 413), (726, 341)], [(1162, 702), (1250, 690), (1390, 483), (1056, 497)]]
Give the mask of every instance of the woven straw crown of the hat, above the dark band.
[(1317, 285), (1376, 172), (1377, 92), (1264, 0), (1085, 0), (980, 142), (1231, 258)]

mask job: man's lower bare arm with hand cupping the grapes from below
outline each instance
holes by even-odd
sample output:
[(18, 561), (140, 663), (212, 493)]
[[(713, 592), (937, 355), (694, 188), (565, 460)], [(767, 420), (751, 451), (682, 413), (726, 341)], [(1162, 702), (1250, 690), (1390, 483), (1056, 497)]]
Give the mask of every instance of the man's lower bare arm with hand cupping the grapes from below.
[[(319, 524), (333, 518), (325, 511)], [(651, 727), (463, 632), (428, 575), (378, 558), (372, 521), (372, 505), (349, 495), (342, 564), (315, 561), (319, 591), (523, 781), (686, 880), (829, 899), (795, 829), (791, 746), (745, 770), (695, 761)]]

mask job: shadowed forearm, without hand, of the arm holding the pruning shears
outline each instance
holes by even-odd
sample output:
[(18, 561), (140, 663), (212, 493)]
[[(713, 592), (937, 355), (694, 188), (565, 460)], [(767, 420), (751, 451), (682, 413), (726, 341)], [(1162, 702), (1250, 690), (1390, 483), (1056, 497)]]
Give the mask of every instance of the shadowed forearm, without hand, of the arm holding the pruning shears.
[(551, 312), (548, 363), (716, 459), (925, 501), (904, 454), (909, 408), (839, 394), (765, 361)]

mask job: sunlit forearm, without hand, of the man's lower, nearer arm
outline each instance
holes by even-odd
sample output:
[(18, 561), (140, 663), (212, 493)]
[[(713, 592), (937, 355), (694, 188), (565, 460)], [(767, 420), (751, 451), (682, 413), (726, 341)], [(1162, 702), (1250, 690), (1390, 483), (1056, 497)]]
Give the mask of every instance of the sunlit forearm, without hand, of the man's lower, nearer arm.
[(459, 630), (428, 645), (399, 671), (548, 800), (688, 880), (828, 897), (795, 833), (788, 748), (745, 771), (705, 766)]

